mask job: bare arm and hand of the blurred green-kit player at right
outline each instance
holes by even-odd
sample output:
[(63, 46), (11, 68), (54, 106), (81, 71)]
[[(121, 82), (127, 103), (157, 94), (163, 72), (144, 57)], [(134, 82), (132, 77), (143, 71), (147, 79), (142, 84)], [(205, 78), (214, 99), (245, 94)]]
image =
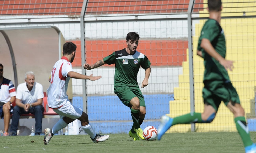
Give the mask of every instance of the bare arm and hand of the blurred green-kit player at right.
[(226, 69), (232, 71), (234, 68), (233, 62), (229, 61), (223, 58), (221, 55), (219, 55), (218, 52), (215, 51), (213, 48), (211, 42), (208, 39), (203, 38), (201, 45), (200, 45), (210, 56), (212, 56), (215, 60), (219, 61), (219, 63)]

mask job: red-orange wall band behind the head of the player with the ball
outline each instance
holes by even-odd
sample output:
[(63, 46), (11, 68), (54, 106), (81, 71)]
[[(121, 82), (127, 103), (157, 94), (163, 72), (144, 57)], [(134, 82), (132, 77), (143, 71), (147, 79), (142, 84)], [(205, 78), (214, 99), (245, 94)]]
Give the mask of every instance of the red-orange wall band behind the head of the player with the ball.
[[(84, 62), (81, 62), (80, 40), (72, 42), (77, 45), (72, 65), (81, 66)], [(88, 40), (85, 44), (86, 63), (89, 64), (127, 47), (124, 40)], [(184, 40), (140, 40), (137, 50), (148, 57), (152, 66), (182, 66), (182, 62), (187, 61), (187, 48), (188, 41)]]

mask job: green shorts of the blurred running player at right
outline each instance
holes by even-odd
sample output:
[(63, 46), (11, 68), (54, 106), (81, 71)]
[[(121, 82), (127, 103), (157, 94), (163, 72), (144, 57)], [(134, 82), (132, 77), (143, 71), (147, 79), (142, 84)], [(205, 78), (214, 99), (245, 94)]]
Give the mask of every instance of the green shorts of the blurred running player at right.
[(218, 111), (221, 101), (227, 106), (229, 101), (240, 104), (236, 89), (230, 81), (204, 81), (203, 101)]

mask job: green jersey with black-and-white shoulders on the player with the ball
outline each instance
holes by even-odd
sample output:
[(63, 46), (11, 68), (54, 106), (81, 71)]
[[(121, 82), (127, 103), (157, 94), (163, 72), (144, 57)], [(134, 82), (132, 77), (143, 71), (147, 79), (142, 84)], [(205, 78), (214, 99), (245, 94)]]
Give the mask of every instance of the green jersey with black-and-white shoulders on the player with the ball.
[(138, 51), (128, 54), (125, 49), (115, 51), (103, 60), (108, 65), (115, 64), (114, 88), (138, 86), (137, 74), (140, 66), (146, 70), (151, 64), (144, 54)]

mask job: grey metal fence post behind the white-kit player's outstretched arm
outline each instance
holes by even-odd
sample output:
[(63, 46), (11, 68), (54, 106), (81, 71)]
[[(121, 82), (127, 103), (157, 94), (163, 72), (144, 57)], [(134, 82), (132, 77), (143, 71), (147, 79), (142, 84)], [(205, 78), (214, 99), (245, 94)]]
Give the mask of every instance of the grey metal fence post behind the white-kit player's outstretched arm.
[[(80, 14), (80, 33), (81, 33), (81, 57), (82, 57), (82, 65), (85, 61), (85, 31), (84, 31), (84, 15), (85, 8), (87, 6), (88, 0), (83, 2), (81, 14)], [(86, 75), (85, 69), (82, 68), (82, 74)], [(82, 80), (82, 88), (83, 88), (83, 111), (87, 113), (87, 92), (86, 92), (86, 80)]]

